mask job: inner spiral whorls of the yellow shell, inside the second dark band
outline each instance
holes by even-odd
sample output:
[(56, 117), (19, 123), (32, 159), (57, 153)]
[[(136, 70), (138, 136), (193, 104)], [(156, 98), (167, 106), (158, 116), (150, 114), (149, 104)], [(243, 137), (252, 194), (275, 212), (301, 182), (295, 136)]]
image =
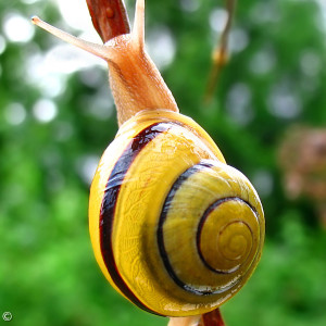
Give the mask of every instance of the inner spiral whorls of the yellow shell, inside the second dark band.
[[(236, 189), (236, 173), (225, 164), (202, 160), (179, 176), (165, 200), (158, 230), (161, 256), (174, 281), (190, 293), (226, 294), (259, 258), (256, 203), (250, 203), (246, 184), (241, 192)], [(187, 255), (191, 255), (189, 267), (185, 267)]]

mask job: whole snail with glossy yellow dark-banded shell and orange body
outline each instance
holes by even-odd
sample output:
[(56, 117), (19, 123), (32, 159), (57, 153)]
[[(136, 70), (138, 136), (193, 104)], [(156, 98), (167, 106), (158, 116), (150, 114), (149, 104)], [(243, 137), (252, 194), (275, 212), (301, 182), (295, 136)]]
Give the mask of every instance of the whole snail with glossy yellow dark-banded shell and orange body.
[(253, 273), (264, 241), (259, 196), (173, 95), (145, 50), (145, 1), (131, 33), (103, 46), (33, 22), (109, 64), (120, 129), (96, 171), (89, 230), (111, 285), (163, 316), (213, 311)]

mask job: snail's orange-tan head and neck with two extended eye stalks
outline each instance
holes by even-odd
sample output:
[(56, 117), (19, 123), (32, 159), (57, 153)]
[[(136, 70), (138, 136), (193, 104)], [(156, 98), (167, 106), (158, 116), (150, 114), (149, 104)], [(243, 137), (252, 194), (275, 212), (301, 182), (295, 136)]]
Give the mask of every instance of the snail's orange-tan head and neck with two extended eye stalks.
[(137, 0), (133, 32), (116, 36), (104, 45), (82, 40), (49, 25), (37, 16), (34, 16), (32, 22), (60, 39), (108, 62), (118, 125), (142, 110), (179, 111), (159, 70), (145, 50), (143, 0)]

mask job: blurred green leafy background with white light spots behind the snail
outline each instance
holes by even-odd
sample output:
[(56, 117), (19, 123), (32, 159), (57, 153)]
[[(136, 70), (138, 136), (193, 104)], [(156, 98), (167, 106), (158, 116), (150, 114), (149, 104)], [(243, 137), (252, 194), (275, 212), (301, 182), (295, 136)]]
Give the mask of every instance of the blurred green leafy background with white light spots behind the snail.
[[(222, 306), (229, 326), (326, 325), (325, 2), (239, 1), (231, 59), (205, 105), (224, 2), (147, 0), (149, 51), (181, 113), (265, 210), (261, 263)], [(0, 2), (0, 314), (22, 326), (166, 325), (109, 286), (89, 241), (89, 185), (117, 130), (105, 64), (32, 26), (33, 14), (100, 41), (84, 0)]]

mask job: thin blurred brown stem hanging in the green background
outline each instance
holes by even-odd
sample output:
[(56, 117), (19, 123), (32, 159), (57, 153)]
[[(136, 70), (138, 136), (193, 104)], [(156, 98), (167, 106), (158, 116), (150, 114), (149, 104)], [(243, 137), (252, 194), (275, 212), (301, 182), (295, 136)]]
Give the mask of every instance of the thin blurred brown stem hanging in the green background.
[(230, 32), (230, 27), (233, 24), (233, 17), (236, 9), (236, 0), (226, 0), (226, 8), (228, 12), (227, 21), (225, 27), (222, 32), (220, 41), (217, 47), (213, 50), (213, 66), (211, 68), (211, 73), (209, 76), (209, 82), (206, 86), (206, 91), (204, 96), (204, 100), (209, 103), (212, 100), (214, 89), (218, 82), (218, 77), (221, 75), (222, 67), (228, 61), (227, 46), (228, 46), (228, 35)]

